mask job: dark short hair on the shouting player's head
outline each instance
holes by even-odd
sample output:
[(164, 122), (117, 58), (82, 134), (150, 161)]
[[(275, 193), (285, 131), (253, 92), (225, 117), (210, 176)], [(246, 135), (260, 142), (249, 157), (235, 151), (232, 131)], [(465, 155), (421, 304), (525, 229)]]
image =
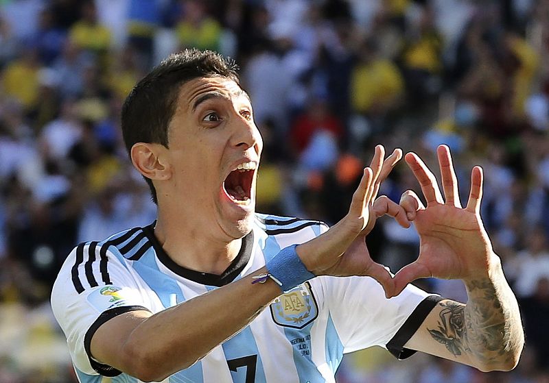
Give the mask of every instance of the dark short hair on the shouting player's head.
[[(137, 83), (124, 101), (121, 127), (128, 154), (136, 143), (156, 143), (168, 147), (167, 129), (176, 111), (179, 90), (185, 82), (200, 77), (222, 76), (240, 85), (236, 71), (233, 60), (214, 51), (185, 49), (168, 56)], [(152, 181), (144, 178), (152, 200), (158, 203)]]

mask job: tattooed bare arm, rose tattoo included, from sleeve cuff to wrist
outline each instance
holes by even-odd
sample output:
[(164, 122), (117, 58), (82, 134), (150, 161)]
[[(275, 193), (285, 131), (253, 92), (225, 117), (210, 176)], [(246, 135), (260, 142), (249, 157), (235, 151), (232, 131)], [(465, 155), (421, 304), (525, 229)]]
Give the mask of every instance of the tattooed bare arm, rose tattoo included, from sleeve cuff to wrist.
[(445, 349), (421, 343), (416, 349), (474, 366), (481, 371), (513, 369), (524, 345), (524, 332), (515, 295), (507, 284), (499, 258), (489, 271), (464, 280), (467, 304), (445, 299), (428, 321), (430, 338)]

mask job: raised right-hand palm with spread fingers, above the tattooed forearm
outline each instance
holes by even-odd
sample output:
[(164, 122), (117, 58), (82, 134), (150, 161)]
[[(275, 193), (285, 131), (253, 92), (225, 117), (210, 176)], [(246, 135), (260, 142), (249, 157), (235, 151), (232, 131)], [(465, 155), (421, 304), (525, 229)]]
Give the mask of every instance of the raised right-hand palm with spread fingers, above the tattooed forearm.
[(491, 264), (497, 259), (480, 219), (482, 169), (475, 166), (471, 171), (469, 201), (467, 207), (462, 208), (449, 149), (446, 145), (441, 145), (436, 153), (445, 199), (435, 176), (421, 158), (414, 153), (408, 153), (405, 157), (406, 163), (419, 181), (427, 207), (411, 190), (402, 195), (400, 204), (406, 210), (408, 219), (414, 222), (420, 246), (417, 260), (395, 275), (395, 295), (406, 284), (419, 278), (467, 281), (487, 276)]

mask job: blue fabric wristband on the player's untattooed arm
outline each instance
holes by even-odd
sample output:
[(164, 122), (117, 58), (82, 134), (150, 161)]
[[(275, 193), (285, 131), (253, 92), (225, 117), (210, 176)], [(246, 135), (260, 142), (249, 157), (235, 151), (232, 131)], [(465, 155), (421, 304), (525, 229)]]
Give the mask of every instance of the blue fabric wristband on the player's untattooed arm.
[(275, 282), (281, 282), (279, 286), (283, 293), (315, 277), (301, 262), (296, 252), (296, 246), (285, 247), (267, 262), (268, 273), (274, 277)]

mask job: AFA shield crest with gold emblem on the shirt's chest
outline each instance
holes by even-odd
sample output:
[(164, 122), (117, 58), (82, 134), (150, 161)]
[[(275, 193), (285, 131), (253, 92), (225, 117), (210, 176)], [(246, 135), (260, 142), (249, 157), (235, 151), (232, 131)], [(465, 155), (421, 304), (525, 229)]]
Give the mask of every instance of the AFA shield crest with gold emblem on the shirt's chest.
[(309, 282), (284, 293), (269, 307), (274, 323), (283, 327), (304, 328), (318, 317), (318, 306)]

